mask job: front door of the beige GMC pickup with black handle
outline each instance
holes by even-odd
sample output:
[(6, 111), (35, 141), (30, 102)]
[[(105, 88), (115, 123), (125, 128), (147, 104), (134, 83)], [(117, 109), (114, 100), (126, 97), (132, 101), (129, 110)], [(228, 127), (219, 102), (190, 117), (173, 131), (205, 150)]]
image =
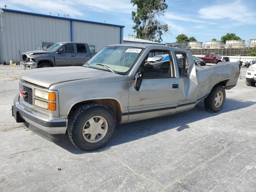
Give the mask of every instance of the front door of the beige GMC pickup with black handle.
[[(148, 55), (154, 52), (160, 51), (152, 50)], [(161, 52), (169, 54), (171, 58), (170, 51)], [(134, 88), (134, 80), (129, 83), (129, 122), (174, 114), (176, 111), (179, 89), (172, 58), (164, 62), (152, 62), (152, 65), (146, 64), (138, 91)]]

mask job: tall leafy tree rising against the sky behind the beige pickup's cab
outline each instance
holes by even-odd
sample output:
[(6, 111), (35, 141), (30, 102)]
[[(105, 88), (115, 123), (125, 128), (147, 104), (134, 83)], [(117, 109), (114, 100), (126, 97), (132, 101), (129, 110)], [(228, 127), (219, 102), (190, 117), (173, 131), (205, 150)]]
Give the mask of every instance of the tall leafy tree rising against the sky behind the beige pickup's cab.
[(162, 35), (168, 33), (168, 25), (160, 24), (155, 17), (164, 15), (168, 5), (165, 0), (131, 0), (137, 11), (132, 11), (132, 27), (136, 38), (162, 42)]

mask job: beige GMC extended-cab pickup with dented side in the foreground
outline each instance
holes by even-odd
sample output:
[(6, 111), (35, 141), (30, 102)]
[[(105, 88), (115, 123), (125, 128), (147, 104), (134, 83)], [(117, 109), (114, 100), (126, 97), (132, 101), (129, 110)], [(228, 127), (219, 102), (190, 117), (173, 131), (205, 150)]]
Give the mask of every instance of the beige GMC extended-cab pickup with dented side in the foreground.
[[(153, 52), (166, 52), (170, 60), (154, 67), (147, 61)], [(96, 150), (108, 143), (116, 123), (184, 112), (203, 100), (207, 110), (220, 111), (239, 73), (239, 62), (196, 67), (187, 50), (117, 44), (84, 66), (22, 72), (12, 115), (48, 140), (68, 134), (77, 148)]]

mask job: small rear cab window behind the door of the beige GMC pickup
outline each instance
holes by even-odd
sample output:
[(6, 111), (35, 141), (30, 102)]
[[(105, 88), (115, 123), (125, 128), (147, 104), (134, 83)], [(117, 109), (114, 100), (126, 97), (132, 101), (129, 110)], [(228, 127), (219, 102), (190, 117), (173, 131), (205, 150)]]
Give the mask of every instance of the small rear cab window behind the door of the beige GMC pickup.
[(183, 52), (175, 52), (176, 59), (178, 63), (179, 75), (180, 77), (188, 77), (189, 74), (189, 64), (188, 64), (188, 56)]

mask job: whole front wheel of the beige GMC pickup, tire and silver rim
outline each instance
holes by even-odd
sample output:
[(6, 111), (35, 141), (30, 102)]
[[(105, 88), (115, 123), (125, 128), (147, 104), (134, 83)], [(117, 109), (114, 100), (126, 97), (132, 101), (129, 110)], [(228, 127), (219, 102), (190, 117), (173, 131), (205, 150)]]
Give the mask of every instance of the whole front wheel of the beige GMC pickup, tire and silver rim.
[(87, 104), (78, 108), (68, 120), (68, 137), (81, 150), (96, 150), (108, 143), (115, 126), (115, 118), (109, 108)]

